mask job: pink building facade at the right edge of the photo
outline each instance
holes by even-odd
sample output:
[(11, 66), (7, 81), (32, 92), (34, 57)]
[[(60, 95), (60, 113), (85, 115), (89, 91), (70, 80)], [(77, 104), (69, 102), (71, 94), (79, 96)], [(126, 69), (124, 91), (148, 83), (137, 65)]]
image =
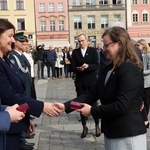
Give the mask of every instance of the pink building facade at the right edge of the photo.
[(150, 44), (150, 0), (127, 2), (127, 29), (134, 40), (145, 39)]

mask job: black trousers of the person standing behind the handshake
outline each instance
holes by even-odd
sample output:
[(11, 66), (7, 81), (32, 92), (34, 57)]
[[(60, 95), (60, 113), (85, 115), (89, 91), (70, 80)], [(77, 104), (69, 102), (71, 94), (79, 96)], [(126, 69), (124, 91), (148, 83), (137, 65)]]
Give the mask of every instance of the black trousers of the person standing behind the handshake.
[[(76, 92), (77, 92), (77, 96), (80, 96), (80, 95), (83, 95), (83, 94), (86, 94), (88, 91), (90, 90), (93, 90), (94, 87), (76, 87)], [(96, 103), (93, 103), (93, 105), (96, 105)], [(86, 117), (81, 115), (81, 122), (82, 122), (82, 125), (85, 126), (86, 125)], [(99, 124), (99, 119), (98, 118), (93, 118), (94, 121), (95, 121), (95, 124), (98, 125)]]

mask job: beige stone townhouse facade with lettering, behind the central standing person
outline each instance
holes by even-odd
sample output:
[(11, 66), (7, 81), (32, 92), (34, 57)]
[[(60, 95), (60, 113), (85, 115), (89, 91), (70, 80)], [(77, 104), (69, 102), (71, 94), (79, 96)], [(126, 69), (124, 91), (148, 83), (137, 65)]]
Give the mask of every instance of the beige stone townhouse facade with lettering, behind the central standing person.
[(125, 0), (69, 0), (70, 43), (75, 46), (76, 36), (85, 32), (93, 46), (102, 43), (104, 30), (114, 24), (126, 24)]

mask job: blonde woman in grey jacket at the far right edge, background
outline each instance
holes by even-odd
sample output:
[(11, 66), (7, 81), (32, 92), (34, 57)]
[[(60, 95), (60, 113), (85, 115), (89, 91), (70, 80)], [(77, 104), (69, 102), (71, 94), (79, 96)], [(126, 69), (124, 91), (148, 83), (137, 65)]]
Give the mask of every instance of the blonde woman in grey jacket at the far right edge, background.
[[(148, 118), (150, 108), (150, 47), (144, 39), (138, 40), (138, 48), (141, 50), (143, 58), (143, 76), (144, 76), (144, 108)], [(145, 120), (145, 125), (149, 128), (149, 121)]]

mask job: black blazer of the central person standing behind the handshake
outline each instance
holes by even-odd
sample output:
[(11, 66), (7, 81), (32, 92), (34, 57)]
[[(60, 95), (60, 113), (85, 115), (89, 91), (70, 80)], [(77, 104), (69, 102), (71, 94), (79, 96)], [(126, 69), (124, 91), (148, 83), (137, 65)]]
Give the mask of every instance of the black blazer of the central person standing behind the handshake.
[[(84, 63), (89, 65), (88, 69), (84, 71), (78, 71), (77, 67), (82, 66)], [(91, 87), (95, 86), (96, 70), (98, 67), (98, 55), (95, 48), (88, 47), (85, 57), (82, 56), (81, 49), (75, 49), (72, 53), (72, 69), (76, 72), (76, 87)]]

